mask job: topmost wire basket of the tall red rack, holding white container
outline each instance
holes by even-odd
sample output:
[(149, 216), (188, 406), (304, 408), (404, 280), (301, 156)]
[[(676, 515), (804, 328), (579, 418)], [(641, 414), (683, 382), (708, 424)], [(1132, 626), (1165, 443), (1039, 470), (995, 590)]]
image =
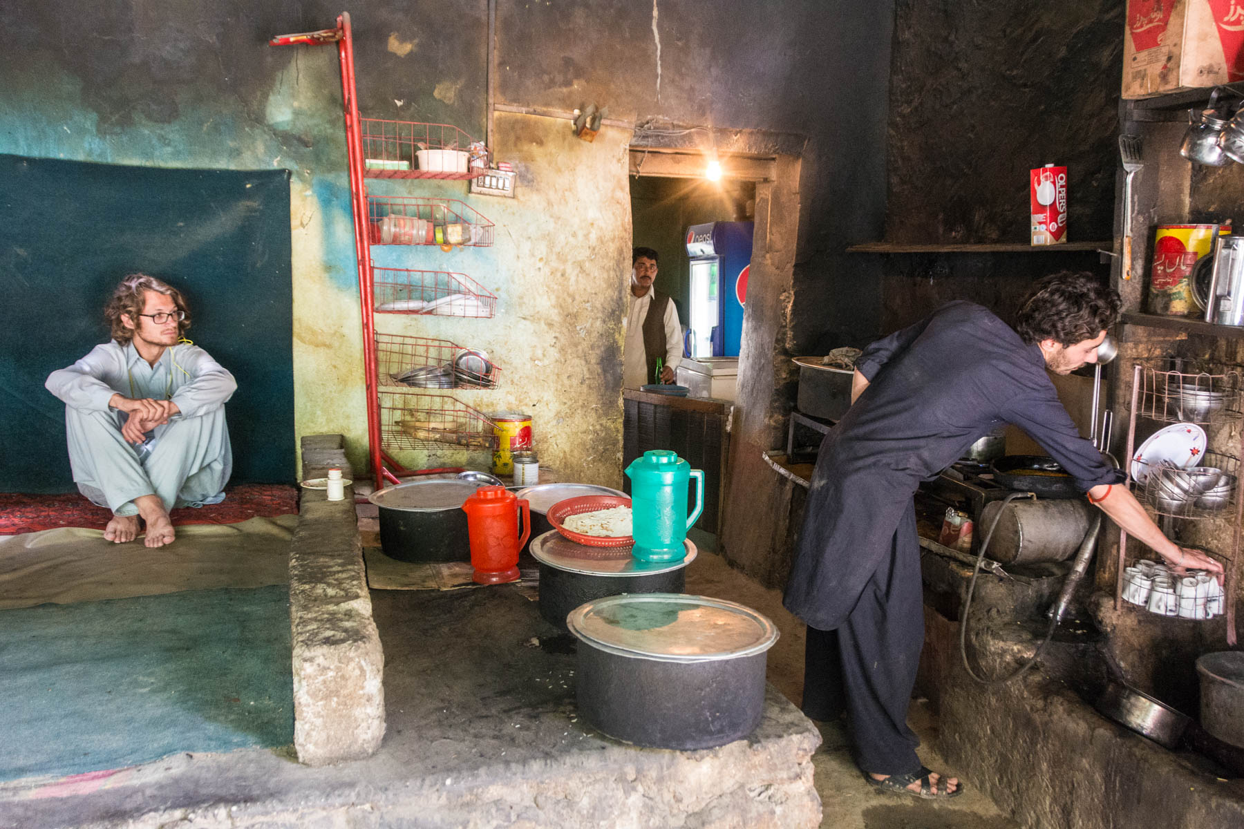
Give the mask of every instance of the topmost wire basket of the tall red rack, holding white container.
[(360, 131), (369, 179), (463, 180), (488, 168), (488, 150), (458, 127), (360, 118)]

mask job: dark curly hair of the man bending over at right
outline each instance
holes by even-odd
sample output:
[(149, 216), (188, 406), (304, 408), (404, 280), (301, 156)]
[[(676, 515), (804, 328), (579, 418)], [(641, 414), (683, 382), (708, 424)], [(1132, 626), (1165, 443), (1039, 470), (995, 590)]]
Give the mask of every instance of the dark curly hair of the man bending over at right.
[(1075, 346), (1095, 339), (1118, 319), (1118, 291), (1087, 271), (1060, 271), (1042, 277), (1015, 314), (1014, 328), (1025, 343), (1052, 339)]

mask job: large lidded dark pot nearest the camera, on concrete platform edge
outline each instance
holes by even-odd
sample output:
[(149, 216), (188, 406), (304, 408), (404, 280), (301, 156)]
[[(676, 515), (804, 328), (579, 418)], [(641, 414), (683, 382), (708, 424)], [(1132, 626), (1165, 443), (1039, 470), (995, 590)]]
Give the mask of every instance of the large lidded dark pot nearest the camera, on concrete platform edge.
[(702, 595), (611, 595), (567, 619), (578, 638), (576, 698), (600, 732), (693, 751), (760, 723), (766, 651), (778, 629), (755, 610)]

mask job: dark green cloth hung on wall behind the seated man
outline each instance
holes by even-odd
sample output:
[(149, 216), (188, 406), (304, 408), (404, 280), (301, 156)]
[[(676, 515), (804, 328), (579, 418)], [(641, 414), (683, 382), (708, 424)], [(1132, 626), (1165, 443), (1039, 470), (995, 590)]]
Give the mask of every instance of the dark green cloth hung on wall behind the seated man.
[(0, 154), (0, 491), (73, 488), (65, 408), (45, 388), (108, 338), (133, 271), (185, 293), (187, 337), (238, 378), (234, 482), (294, 480), (286, 170), (187, 170)]

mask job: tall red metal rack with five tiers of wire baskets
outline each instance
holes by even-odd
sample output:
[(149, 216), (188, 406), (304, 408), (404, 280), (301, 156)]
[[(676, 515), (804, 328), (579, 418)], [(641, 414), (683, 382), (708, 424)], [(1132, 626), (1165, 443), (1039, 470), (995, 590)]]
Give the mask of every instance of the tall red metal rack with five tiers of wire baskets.
[[(419, 244), (440, 245), (449, 249), (453, 245), (471, 245), (484, 247), (493, 244), (493, 222), (475, 209), (457, 199), (430, 199), (418, 196), (368, 196), (366, 179), (470, 179), (479, 169), (471, 168), (471, 153), (479, 154), (479, 147), (471, 147), (470, 137), (447, 124), (420, 124), (415, 122), (394, 122), (362, 119), (358, 117), (358, 97), (355, 85), (355, 45), (351, 34), (350, 14), (337, 16), (333, 29), (322, 29), (295, 35), (279, 35), (269, 40), (271, 46), (322, 46), (336, 44), (341, 67), (341, 91), (343, 99), (343, 118), (346, 127), (346, 160), (350, 170), (350, 204), (355, 226), (355, 250), (358, 259), (358, 293), (363, 328), (363, 375), (367, 393), (367, 444), (371, 459), (371, 472), (376, 488), (386, 481), (398, 483), (399, 475), (409, 474), (393, 460), (389, 449), (435, 450), (445, 447), (485, 449), (496, 444), (495, 424), (478, 410), (450, 396), (430, 395), (429, 389), (419, 392), (401, 392), (386, 387), (381, 390), (381, 347), (386, 350), (386, 367), (393, 354), (406, 354), (415, 350), (411, 344), (401, 346), (396, 336), (377, 334), (376, 318), (381, 313), (438, 313), (435, 308), (412, 307), (407, 311), (378, 309), (387, 302), (409, 302), (418, 300), (428, 302), (442, 297), (427, 297), (423, 293), (429, 286), (427, 276), (415, 273), (434, 273), (432, 283), (439, 286), (442, 271), (419, 272), (402, 268), (376, 268), (372, 265), (371, 246), (379, 244), (415, 244), (417, 229), (424, 231)], [(419, 147), (423, 144), (423, 147)], [(468, 152), (465, 172), (458, 170), (420, 170), (417, 153), (429, 150)], [(458, 157), (455, 157), (458, 158)], [(442, 160), (444, 157), (442, 157)], [(371, 164), (368, 164), (371, 160)], [(486, 153), (485, 153), (486, 163)], [(388, 222), (387, 227), (386, 221)], [(423, 222), (422, 225), (419, 222)], [(388, 240), (384, 240), (387, 230)], [(437, 237), (439, 231), (440, 237)], [(379, 270), (386, 280), (377, 278)], [(404, 275), (396, 277), (394, 275)], [(464, 275), (454, 275), (458, 280)], [(377, 302), (374, 288), (386, 283), (394, 286), (404, 283), (406, 296)], [(466, 277), (469, 278), (469, 277)], [(460, 283), (463, 283), (460, 281)], [(420, 296), (411, 296), (415, 286)], [(448, 282), (447, 282), (448, 285)], [(433, 288), (435, 291), (437, 288)], [(457, 306), (448, 303), (445, 316), (491, 317), (496, 297), (486, 291), (471, 290), (475, 302), (463, 301)], [(443, 308), (444, 306), (437, 306)], [(406, 338), (418, 339), (418, 338)], [(450, 346), (453, 346), (450, 343)], [(429, 347), (430, 348), (430, 347)], [(439, 348), (439, 347), (437, 347)], [(453, 359), (453, 358), (450, 358)], [(429, 363), (430, 364), (430, 363)], [(493, 367), (494, 370), (496, 367)], [(403, 369), (404, 370), (404, 369)], [(391, 370), (384, 372), (388, 382)], [(475, 388), (491, 388), (488, 384), (489, 373), (481, 374), (481, 382)], [(495, 383), (493, 384), (495, 385)], [(401, 388), (401, 387), (399, 387)], [(417, 425), (417, 424), (423, 424)]]

